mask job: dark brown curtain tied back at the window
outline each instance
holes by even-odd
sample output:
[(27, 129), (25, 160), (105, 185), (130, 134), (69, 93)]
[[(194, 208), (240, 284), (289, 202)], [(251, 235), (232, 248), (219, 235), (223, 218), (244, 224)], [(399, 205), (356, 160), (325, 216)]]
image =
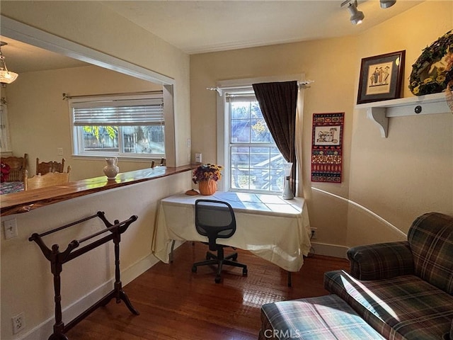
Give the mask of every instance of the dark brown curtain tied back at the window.
[(296, 150), (294, 134), (296, 129), (297, 81), (252, 84), (260, 104), (264, 120), (270, 133), (287, 162), (292, 162), (289, 183), (296, 193)]

